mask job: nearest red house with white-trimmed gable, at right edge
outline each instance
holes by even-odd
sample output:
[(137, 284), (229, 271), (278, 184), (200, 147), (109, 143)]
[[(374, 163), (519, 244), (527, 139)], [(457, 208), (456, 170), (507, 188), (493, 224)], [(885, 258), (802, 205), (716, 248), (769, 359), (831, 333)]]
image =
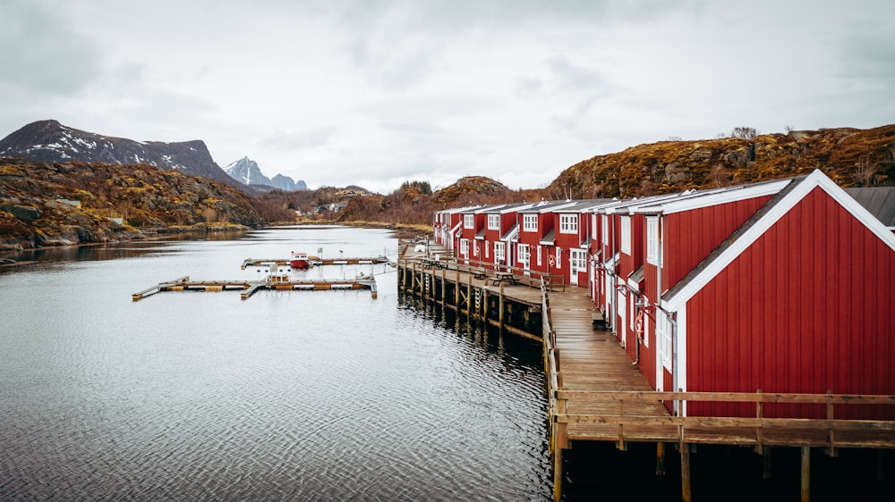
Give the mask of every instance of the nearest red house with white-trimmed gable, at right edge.
[(895, 234), (822, 172), (636, 212), (651, 265), (638, 303), (654, 322), (640, 367), (657, 389), (895, 394)]

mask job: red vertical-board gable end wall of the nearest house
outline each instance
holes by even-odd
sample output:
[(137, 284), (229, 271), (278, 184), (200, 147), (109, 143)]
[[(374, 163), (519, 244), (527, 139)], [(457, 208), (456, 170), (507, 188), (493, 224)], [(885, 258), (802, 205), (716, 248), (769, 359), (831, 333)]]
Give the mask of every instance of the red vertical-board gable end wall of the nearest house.
[[(892, 297), (895, 252), (815, 188), (688, 302), (687, 389), (895, 394)], [(691, 404), (688, 413), (750, 415), (754, 406)]]

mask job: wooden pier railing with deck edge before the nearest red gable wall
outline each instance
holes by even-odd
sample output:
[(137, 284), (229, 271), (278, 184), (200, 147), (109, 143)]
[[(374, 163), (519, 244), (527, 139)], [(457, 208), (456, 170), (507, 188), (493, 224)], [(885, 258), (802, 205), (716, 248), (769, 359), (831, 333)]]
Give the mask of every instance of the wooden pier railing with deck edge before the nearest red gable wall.
[[(545, 338), (546, 339), (546, 338)], [(858, 408), (873, 407), (891, 416), (895, 396), (853, 394), (807, 394), (770, 392), (603, 392), (557, 389), (556, 423), (579, 425), (568, 431), (569, 439), (612, 440), (624, 448), (625, 441), (678, 442), (754, 446), (808, 446), (827, 448), (895, 448), (895, 421), (844, 418), (859, 416)], [(566, 413), (570, 400), (586, 402), (599, 412)], [(678, 409), (688, 404), (745, 403), (754, 405), (753, 416), (690, 416), (643, 414), (644, 405), (674, 401)], [(768, 413), (768, 405), (774, 405)], [(781, 408), (794, 406), (789, 412)], [(806, 408), (806, 406), (808, 406)], [(816, 408), (816, 409), (814, 409)], [(655, 409), (652, 406), (650, 409)], [(806, 409), (823, 410), (823, 418), (798, 416)], [(889, 411), (889, 413), (884, 413)], [(816, 414), (816, 413), (815, 413)], [(869, 413), (865, 416), (881, 415)], [(838, 418), (843, 417), (843, 418)], [(607, 427), (608, 426), (608, 427)]]

